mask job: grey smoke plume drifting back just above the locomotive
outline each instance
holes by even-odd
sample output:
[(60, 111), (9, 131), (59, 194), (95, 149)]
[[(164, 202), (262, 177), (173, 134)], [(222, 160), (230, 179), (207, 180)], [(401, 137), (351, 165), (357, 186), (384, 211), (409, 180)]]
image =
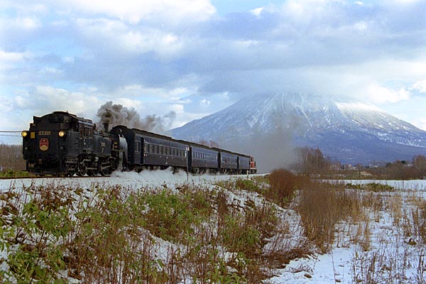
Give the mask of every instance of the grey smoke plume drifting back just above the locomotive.
[(117, 125), (124, 125), (129, 128), (168, 134), (168, 129), (173, 124), (176, 113), (170, 111), (163, 117), (153, 114), (141, 119), (136, 109), (128, 109), (121, 104), (113, 104), (109, 101), (99, 107), (97, 116), (101, 125), (109, 124), (109, 129)]

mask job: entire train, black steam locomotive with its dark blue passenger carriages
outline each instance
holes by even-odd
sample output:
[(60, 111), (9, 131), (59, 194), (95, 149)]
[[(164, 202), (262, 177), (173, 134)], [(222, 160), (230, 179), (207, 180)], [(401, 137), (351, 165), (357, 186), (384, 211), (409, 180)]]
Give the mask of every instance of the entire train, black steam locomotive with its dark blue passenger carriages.
[(23, 158), (36, 175), (110, 175), (114, 170), (172, 167), (191, 173), (256, 173), (250, 155), (126, 126), (97, 131), (89, 119), (64, 111), (34, 116), (22, 131)]

